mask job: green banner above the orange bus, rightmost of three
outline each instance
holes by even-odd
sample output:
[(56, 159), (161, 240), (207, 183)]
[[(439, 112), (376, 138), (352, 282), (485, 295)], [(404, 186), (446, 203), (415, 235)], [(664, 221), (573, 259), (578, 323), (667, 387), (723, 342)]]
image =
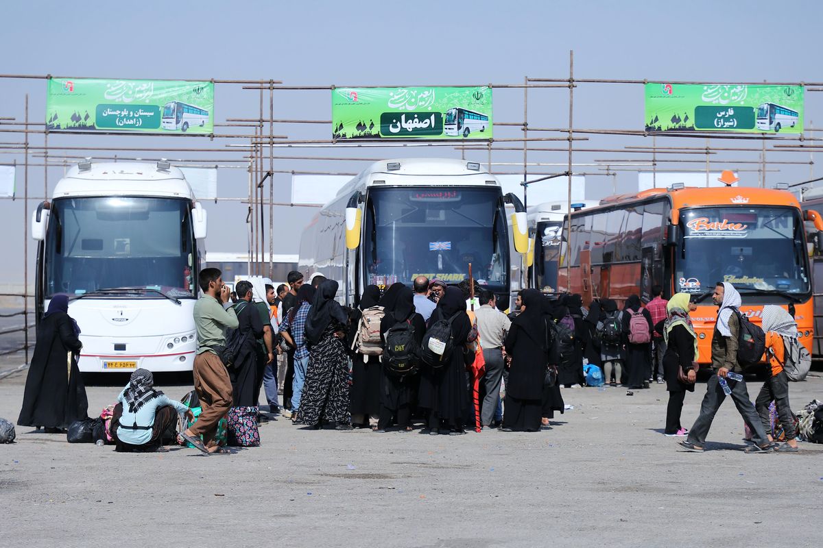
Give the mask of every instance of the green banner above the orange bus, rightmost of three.
[(802, 133), (802, 85), (646, 84), (646, 131)]

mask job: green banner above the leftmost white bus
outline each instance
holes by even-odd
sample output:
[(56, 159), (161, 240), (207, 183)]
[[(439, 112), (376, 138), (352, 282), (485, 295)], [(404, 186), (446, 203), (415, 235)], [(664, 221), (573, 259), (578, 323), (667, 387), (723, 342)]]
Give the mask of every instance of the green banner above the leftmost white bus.
[(49, 131), (212, 133), (212, 82), (52, 78), (46, 97)]

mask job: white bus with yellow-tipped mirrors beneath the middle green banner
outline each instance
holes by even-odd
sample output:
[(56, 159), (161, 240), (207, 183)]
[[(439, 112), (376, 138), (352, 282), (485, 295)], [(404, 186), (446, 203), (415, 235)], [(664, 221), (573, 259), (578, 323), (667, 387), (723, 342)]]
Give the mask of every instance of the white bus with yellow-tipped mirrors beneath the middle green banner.
[(528, 248), (526, 212), (517, 196), (479, 163), (391, 159), (373, 163), (319, 210), (300, 239), (299, 269), (337, 280), (338, 300), (357, 304), (370, 284), (411, 287), (419, 274), (458, 283), (472, 276), (508, 303), (509, 229)]

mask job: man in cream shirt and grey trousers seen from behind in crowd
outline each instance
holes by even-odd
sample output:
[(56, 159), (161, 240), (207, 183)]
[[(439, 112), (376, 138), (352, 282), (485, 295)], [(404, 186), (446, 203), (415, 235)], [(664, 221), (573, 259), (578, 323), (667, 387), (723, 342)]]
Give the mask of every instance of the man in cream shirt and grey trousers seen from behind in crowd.
[(504, 370), (503, 341), (512, 322), (498, 310), (495, 294), (487, 289), (480, 292), (480, 308), (474, 313), (477, 316), (477, 332), (480, 334), (483, 358), (486, 360), (486, 374), (483, 376), (486, 397), (483, 398), (480, 412), (481, 424), (485, 429), (492, 426), (500, 405), (500, 380)]

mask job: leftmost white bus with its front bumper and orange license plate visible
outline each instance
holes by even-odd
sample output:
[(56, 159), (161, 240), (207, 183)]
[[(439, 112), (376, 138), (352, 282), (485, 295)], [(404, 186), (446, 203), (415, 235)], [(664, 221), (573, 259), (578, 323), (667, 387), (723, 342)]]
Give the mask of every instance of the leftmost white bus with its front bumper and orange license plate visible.
[(80, 371), (189, 371), (206, 211), (167, 162), (79, 163), (32, 214), (36, 317), (69, 295)]

